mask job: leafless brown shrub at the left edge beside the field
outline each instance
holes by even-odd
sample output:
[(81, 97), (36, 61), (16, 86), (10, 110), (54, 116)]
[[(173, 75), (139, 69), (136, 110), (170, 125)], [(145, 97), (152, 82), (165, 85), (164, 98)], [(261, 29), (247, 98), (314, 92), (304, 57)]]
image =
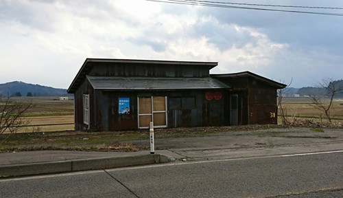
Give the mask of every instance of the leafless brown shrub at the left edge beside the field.
[(8, 132), (2, 144), (12, 133), (16, 133), (23, 126), (29, 124), (29, 120), (23, 118), (23, 114), (32, 107), (32, 102), (14, 101), (10, 97), (0, 97), (0, 134)]

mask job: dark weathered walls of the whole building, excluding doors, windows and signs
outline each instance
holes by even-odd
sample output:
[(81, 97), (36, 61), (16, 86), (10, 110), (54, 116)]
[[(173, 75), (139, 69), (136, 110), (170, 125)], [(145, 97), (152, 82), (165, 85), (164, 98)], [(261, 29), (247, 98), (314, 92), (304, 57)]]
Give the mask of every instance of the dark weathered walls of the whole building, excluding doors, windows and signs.
[[(117, 67), (118, 66), (118, 67)], [(169, 65), (148, 70), (148, 65), (102, 65), (91, 71), (96, 76), (178, 76), (208, 75), (208, 70), (198, 72), (181, 68), (168, 69)], [(179, 66), (176, 66), (179, 67)], [(152, 73), (150, 73), (152, 72)], [(193, 72), (193, 73), (192, 73)], [(173, 74), (171, 74), (173, 73)], [(192, 73), (192, 74), (191, 74)], [(90, 94), (91, 131), (120, 131), (138, 129), (137, 97), (167, 96), (168, 98), (196, 99), (193, 107), (169, 108), (167, 105), (167, 126), (228, 126), (230, 124), (230, 94), (238, 95), (238, 124), (277, 124), (276, 88), (255, 78), (220, 78), (230, 85), (228, 89), (170, 90), (170, 91), (95, 91), (85, 80), (75, 92), (75, 130), (85, 130), (83, 124), (82, 95)], [(206, 93), (220, 92), (222, 98), (206, 99)], [(118, 98), (130, 98), (130, 115), (118, 113)], [(168, 99), (169, 100), (169, 99)]]

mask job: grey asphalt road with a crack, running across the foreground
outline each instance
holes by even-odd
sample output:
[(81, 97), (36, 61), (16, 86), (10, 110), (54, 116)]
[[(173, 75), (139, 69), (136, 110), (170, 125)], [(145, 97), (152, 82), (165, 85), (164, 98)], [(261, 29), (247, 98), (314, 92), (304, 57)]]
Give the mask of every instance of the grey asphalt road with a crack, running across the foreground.
[(0, 197), (343, 197), (343, 153), (0, 179)]

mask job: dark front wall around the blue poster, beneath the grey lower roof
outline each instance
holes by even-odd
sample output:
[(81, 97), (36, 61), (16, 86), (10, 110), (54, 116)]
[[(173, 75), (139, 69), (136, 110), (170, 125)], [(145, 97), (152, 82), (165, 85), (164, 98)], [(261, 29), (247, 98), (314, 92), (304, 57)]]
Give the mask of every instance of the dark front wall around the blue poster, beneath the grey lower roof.
[[(220, 100), (206, 100), (206, 92), (221, 92)], [(138, 129), (137, 96), (167, 96), (168, 98), (196, 99), (193, 107), (171, 109), (167, 104), (167, 127), (180, 126), (225, 126), (228, 123), (224, 100), (227, 100), (223, 90), (200, 91), (95, 91), (93, 114), (96, 115), (91, 123), (93, 131), (122, 131)], [(130, 115), (119, 114), (118, 98), (130, 98)], [(168, 100), (169, 101), (169, 100)], [(81, 109), (82, 110), (82, 109)], [(95, 113), (94, 113), (95, 112)], [(82, 113), (82, 111), (81, 111)], [(82, 115), (82, 114), (81, 114)], [(82, 121), (82, 120), (81, 120)]]

